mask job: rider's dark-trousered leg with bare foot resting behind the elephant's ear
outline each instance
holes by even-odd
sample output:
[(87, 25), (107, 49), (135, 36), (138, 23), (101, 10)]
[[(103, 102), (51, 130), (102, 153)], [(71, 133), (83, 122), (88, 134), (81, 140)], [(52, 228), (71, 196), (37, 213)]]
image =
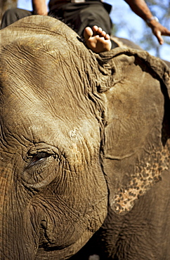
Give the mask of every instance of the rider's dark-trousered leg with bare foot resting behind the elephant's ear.
[(74, 30), (84, 37), (86, 46), (92, 51), (99, 53), (110, 50), (111, 41), (108, 34), (111, 33), (112, 22), (102, 2), (58, 4), (55, 7), (55, 15), (73, 25)]

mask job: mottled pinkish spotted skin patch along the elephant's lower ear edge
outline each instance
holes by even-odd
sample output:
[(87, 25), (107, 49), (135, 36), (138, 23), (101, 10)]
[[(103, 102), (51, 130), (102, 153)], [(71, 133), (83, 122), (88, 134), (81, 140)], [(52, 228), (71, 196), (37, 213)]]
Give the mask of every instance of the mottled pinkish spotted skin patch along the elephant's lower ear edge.
[(115, 196), (113, 207), (117, 214), (126, 214), (134, 205), (134, 201), (155, 183), (161, 180), (161, 174), (169, 169), (170, 142), (162, 150), (155, 149), (148, 157), (136, 165), (136, 174), (126, 188), (120, 188)]

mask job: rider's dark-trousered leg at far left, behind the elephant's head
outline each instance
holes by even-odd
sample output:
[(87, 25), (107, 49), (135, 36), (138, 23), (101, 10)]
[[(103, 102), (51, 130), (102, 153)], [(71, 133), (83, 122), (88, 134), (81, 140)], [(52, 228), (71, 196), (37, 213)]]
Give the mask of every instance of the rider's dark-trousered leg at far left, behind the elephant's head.
[(13, 22), (20, 20), (26, 16), (32, 15), (31, 11), (23, 10), (20, 8), (11, 8), (8, 9), (1, 20), (1, 29), (4, 29), (6, 26), (11, 25)]

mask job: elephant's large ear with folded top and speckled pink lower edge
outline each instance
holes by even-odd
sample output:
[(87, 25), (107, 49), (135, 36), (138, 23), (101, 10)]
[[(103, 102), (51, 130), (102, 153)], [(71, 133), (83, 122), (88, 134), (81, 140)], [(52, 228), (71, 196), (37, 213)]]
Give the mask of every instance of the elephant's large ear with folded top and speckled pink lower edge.
[(114, 72), (112, 86), (103, 91), (102, 165), (110, 207), (126, 214), (169, 169), (170, 72), (145, 51), (117, 48), (100, 58)]

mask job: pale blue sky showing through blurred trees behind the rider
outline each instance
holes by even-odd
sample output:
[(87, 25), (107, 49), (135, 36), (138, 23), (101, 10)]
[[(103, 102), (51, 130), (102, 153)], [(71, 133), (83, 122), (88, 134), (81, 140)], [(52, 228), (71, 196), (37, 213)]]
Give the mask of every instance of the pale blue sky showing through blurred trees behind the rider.
[[(136, 44), (138, 44), (139, 39), (141, 37), (141, 33), (143, 32), (143, 20), (139, 18), (138, 15), (133, 13), (129, 8), (129, 5), (126, 4), (126, 2), (123, 0), (107, 0), (106, 2), (112, 5), (112, 12), (110, 13), (112, 22), (116, 23), (118, 19), (123, 19), (124, 22), (126, 22), (126, 27), (128, 26), (129, 30), (133, 32), (131, 36), (131, 41), (134, 41)], [(48, 0), (46, 0), (46, 3), (48, 4)], [(18, 7), (27, 10), (32, 10), (32, 0), (18, 0)], [(159, 6), (157, 7), (157, 9), (157, 13), (159, 14)], [(168, 25), (166, 26), (168, 27)], [(152, 34), (151, 31), (150, 33)], [(117, 32), (116, 36), (129, 39), (129, 34), (124, 26), (122, 26), (121, 29), (119, 28), (119, 31)], [(150, 50), (149, 53), (155, 56), (155, 49)], [(168, 44), (164, 44), (163, 46), (161, 46), (160, 53), (162, 59), (170, 61), (170, 46)]]

